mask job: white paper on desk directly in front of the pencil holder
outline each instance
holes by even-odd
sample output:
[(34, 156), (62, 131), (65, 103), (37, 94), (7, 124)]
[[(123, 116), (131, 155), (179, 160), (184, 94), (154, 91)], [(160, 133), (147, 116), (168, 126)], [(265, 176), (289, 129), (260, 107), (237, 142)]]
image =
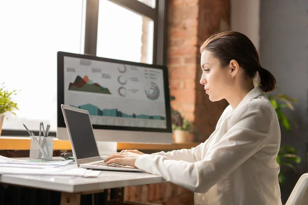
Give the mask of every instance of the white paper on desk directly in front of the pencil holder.
[(67, 165), (73, 160), (64, 160), (64, 161), (33, 161), (33, 160), (21, 160), (21, 159), (12, 159), (0, 155), (0, 164), (11, 163), (11, 164), (20, 164), (20, 165), (45, 165), (45, 166), (63, 166)]

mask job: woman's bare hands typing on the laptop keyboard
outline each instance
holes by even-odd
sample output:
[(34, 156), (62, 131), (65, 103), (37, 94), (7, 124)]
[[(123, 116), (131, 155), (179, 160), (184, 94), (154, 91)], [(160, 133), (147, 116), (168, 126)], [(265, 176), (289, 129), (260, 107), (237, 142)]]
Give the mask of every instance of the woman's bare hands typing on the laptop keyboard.
[[(142, 152), (140, 152), (140, 153), (142, 153)], [(130, 167), (136, 167), (136, 166), (134, 166), (134, 163), (136, 162), (137, 157), (141, 156), (142, 154), (132, 153), (132, 152), (128, 152), (128, 151), (127, 152), (116, 152), (116, 153), (108, 156), (104, 160), (104, 162), (106, 162), (108, 165), (109, 165), (109, 163), (120, 162), (123, 165), (127, 165), (127, 166), (130, 166)]]

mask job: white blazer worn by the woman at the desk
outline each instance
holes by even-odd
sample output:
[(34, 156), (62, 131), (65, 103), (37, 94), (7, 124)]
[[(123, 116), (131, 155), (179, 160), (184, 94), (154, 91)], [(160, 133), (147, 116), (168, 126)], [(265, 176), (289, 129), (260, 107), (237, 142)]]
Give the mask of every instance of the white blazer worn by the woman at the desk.
[[(204, 113), (206, 114), (206, 113)], [(281, 204), (277, 114), (259, 86), (196, 148), (144, 154), (135, 166), (195, 192), (195, 204)]]

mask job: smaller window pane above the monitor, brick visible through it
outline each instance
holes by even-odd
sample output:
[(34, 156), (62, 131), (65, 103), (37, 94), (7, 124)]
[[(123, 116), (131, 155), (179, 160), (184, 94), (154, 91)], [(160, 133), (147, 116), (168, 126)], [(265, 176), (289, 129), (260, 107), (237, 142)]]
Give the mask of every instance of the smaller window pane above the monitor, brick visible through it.
[(110, 1), (100, 1), (98, 56), (152, 64), (153, 34), (153, 20)]

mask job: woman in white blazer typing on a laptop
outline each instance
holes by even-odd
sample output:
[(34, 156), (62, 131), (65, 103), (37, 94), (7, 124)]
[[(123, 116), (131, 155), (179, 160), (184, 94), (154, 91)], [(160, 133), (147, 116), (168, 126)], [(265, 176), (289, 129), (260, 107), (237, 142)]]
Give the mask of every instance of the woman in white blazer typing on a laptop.
[(242, 33), (213, 35), (200, 52), (200, 84), (211, 101), (230, 104), (210, 137), (192, 149), (151, 155), (124, 150), (105, 161), (161, 175), (196, 192), (195, 204), (281, 204), (276, 162), (280, 127), (264, 94), (274, 90), (275, 77), (261, 67), (255, 46)]

